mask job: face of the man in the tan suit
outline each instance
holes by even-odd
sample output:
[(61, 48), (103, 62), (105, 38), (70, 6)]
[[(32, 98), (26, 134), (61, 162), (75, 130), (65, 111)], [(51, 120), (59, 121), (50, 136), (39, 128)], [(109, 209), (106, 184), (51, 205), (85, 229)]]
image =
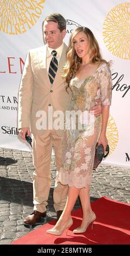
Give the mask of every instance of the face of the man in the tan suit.
[(47, 46), (54, 50), (62, 45), (63, 38), (66, 35), (66, 29), (63, 29), (63, 31), (60, 32), (60, 29), (57, 26), (58, 23), (54, 21), (44, 21), (43, 25), (44, 40), (46, 41)]

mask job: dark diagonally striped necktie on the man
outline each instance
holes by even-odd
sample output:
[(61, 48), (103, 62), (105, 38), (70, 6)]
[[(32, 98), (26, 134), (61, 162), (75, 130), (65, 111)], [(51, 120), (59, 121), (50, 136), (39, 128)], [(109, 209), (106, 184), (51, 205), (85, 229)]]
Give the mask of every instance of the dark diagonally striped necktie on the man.
[(54, 81), (54, 78), (56, 75), (56, 71), (58, 68), (58, 61), (56, 59), (57, 52), (52, 51), (51, 54), (53, 54), (53, 58), (51, 59), (51, 62), (50, 62), (48, 75), (49, 75), (50, 83), (53, 84), (53, 81)]

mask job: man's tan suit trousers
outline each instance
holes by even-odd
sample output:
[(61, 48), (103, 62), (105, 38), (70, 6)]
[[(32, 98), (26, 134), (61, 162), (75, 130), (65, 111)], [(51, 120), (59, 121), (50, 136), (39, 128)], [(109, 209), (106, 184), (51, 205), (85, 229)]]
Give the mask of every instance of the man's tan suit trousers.
[[(56, 133), (57, 132), (57, 133)], [(34, 210), (46, 211), (51, 186), (50, 160), (54, 146), (57, 171), (62, 164), (63, 136), (58, 131), (47, 130), (44, 135), (32, 136), (32, 153), (35, 172), (33, 175)], [(55, 211), (63, 210), (67, 200), (68, 185), (60, 182), (54, 187), (53, 199)]]

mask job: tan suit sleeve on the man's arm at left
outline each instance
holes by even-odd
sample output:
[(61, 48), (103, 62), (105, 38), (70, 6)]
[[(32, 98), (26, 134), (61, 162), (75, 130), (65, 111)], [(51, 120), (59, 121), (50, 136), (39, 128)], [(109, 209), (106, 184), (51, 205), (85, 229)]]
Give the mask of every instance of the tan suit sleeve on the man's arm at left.
[(30, 127), (33, 90), (34, 77), (31, 69), (31, 56), (30, 52), (28, 52), (18, 93), (18, 129)]

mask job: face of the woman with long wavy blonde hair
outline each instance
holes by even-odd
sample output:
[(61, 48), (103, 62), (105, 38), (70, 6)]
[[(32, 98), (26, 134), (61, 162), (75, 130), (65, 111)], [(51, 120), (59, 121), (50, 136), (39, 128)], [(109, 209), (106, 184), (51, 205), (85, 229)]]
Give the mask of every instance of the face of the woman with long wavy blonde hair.
[(75, 51), (77, 53), (77, 56), (80, 58), (87, 57), (88, 54), (88, 38), (87, 35), (84, 32), (79, 32), (77, 35), (73, 38), (73, 44)]

